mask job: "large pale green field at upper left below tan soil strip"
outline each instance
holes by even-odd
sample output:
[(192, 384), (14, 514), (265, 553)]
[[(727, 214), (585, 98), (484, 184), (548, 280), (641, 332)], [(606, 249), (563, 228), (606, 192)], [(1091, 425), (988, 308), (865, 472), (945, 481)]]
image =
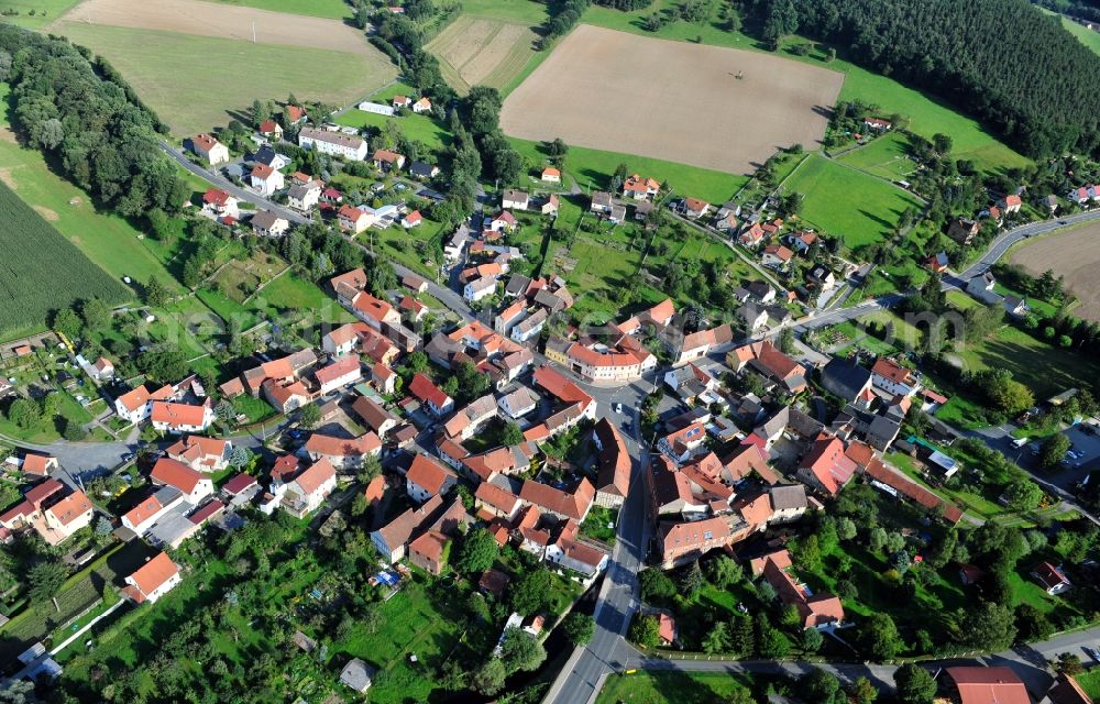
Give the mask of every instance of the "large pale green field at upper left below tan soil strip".
[[(248, 118), (254, 99), (345, 105), (397, 75), (381, 52), (352, 54), (174, 32), (63, 23), (58, 32), (102, 54), (177, 135)], [(323, 70), (318, 67), (323, 66)], [(202, 80), (180, 75), (201, 76)]]

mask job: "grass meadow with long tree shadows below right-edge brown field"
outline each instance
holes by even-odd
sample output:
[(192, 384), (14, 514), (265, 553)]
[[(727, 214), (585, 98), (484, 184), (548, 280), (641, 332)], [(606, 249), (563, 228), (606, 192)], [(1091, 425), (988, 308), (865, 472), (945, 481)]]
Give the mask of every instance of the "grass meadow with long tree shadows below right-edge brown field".
[(1100, 362), (1008, 324), (980, 342), (958, 344), (957, 353), (970, 371), (1009, 370), (1036, 398), (1067, 388), (1088, 387), (1100, 377)]

